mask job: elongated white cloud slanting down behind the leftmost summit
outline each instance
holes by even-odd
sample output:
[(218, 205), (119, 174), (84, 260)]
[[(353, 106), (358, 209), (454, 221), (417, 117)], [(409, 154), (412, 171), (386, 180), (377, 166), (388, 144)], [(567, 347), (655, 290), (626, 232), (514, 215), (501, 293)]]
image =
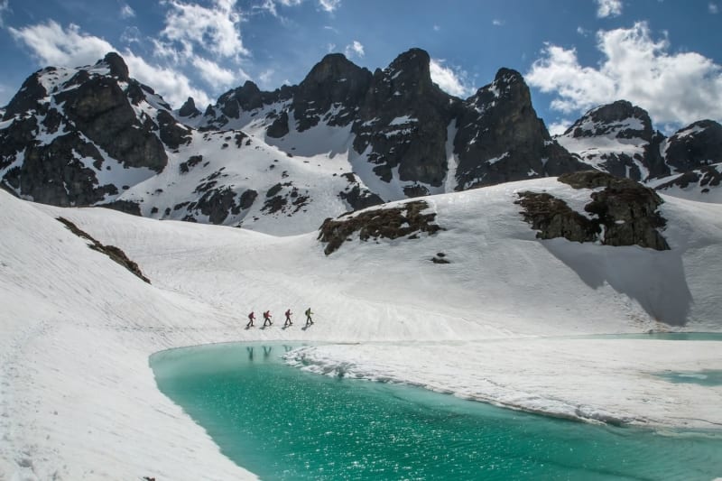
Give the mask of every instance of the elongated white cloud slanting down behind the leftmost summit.
[[(105, 57), (108, 51), (118, 51), (106, 40), (81, 32), (78, 25), (62, 28), (49, 21), (23, 28), (8, 29), (16, 42), (23, 43), (41, 66), (78, 67), (92, 65)], [(190, 79), (177, 69), (152, 65), (132, 51), (121, 52), (131, 76), (152, 85), (171, 105), (180, 106), (187, 97), (193, 97), (199, 105), (210, 101), (208, 94), (191, 85)]]

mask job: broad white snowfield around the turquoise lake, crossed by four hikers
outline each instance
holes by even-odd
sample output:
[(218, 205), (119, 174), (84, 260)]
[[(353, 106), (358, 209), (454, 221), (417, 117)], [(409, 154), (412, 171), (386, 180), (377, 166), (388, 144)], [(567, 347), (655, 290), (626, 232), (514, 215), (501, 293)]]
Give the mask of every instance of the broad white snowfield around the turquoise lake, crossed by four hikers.
[[(569, 205), (588, 195), (542, 179), (432, 196), (446, 230), (356, 236), (325, 256), (316, 232), (52, 208), (0, 191), (0, 478), (251, 476), (157, 391), (147, 365), (164, 348), (230, 340), (363, 342), (298, 356), (319, 372), (344, 365), (576, 419), (722, 424), (722, 387), (651, 375), (722, 369), (718, 343), (558, 338), (665, 328), (656, 319), (668, 315), (688, 330), (722, 330), (722, 207), (665, 197), (672, 249), (657, 252), (539, 241), (514, 204), (521, 190)], [(153, 285), (90, 251), (57, 216), (123, 248)], [(430, 262), (440, 252), (450, 264)], [(291, 307), (301, 318), (309, 306), (307, 330), (242, 328), (250, 310), (280, 319)]]

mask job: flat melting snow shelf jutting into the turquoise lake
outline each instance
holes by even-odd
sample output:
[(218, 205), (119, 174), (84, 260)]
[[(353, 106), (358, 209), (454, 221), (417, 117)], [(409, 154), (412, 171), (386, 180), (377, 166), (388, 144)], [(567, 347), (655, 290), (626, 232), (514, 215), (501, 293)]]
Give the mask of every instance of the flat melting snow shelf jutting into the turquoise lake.
[(560, 418), (717, 430), (722, 386), (674, 384), (655, 374), (720, 369), (719, 348), (713, 341), (523, 338), (302, 347), (287, 362)]

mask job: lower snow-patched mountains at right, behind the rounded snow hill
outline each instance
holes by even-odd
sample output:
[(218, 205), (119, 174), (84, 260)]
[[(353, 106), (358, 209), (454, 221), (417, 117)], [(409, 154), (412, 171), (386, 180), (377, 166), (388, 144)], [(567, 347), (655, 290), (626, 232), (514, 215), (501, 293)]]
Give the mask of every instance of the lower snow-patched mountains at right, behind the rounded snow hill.
[(722, 201), (722, 125), (715, 121), (667, 138), (643, 108), (619, 100), (589, 110), (555, 139), (595, 169), (685, 199)]

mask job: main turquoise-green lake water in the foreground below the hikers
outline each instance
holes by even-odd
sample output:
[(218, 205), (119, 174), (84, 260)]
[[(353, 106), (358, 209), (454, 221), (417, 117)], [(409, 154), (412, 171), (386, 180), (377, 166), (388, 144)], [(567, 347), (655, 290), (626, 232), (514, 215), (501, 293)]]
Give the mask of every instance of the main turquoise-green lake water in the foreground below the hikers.
[(263, 479), (668, 479), (722, 476), (711, 432), (616, 428), (421, 388), (305, 373), (292, 346), (158, 353), (162, 393)]

